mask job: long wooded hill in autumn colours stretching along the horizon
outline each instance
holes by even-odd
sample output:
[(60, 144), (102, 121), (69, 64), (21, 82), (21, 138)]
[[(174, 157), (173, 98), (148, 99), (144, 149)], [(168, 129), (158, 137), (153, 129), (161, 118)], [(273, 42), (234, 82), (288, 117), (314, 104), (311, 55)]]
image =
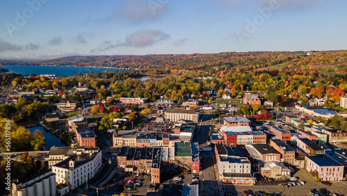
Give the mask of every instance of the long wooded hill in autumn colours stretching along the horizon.
[[(151, 74), (170, 74), (172, 70), (210, 72), (221, 70), (278, 70), (301, 65), (337, 65), (347, 63), (347, 51), (248, 51), (218, 54), (151, 54), (120, 56), (67, 56), (51, 60), (0, 60), (2, 65), (56, 65), (76, 67), (115, 67), (138, 69)], [(332, 58), (338, 58), (331, 60)], [(300, 63), (299, 63), (300, 62)]]

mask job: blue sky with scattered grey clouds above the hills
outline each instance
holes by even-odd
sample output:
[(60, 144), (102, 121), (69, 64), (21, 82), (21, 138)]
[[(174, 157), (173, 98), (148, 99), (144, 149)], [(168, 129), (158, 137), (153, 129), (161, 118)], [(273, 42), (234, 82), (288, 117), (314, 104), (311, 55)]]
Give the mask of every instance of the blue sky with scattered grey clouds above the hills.
[(3, 0), (0, 59), (347, 49), (347, 1)]

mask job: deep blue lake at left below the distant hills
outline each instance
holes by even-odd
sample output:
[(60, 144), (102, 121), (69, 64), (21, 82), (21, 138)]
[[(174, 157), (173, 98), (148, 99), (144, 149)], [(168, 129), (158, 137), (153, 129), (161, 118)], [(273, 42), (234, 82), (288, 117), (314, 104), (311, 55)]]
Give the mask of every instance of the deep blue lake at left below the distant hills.
[(119, 71), (122, 69), (102, 68), (102, 67), (66, 67), (66, 66), (40, 66), (40, 65), (0, 65), (0, 67), (8, 69), (6, 74), (10, 72), (28, 76), (29, 74), (56, 74), (56, 76), (74, 76), (74, 74), (85, 74), (88, 72), (101, 73), (103, 71)]

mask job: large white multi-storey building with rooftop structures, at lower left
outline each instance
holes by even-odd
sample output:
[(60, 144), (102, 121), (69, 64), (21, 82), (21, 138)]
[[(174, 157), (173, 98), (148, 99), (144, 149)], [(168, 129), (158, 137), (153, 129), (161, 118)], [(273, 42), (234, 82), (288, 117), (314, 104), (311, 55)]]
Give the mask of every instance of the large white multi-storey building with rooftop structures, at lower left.
[(101, 159), (99, 148), (74, 148), (74, 155), (52, 166), (56, 183), (67, 184), (74, 190), (96, 175), (101, 168)]

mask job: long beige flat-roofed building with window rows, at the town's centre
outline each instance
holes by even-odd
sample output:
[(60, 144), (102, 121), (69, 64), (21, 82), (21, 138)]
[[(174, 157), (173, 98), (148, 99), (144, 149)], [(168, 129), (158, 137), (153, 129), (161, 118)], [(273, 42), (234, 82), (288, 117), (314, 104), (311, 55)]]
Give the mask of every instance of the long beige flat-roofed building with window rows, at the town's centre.
[(187, 120), (198, 122), (198, 113), (192, 110), (171, 109), (165, 112), (164, 118), (171, 122), (179, 122), (180, 120)]

